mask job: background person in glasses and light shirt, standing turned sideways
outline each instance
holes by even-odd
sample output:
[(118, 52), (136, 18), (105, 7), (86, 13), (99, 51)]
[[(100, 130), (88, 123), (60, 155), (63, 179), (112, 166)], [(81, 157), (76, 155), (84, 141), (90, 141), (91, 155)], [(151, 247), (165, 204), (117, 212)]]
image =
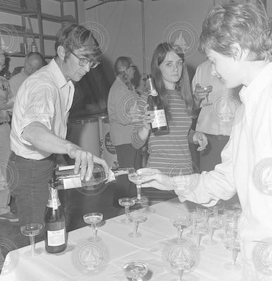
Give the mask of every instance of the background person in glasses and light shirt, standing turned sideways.
[[(137, 107), (137, 100), (140, 99), (132, 83), (135, 70), (131, 58), (117, 58), (114, 64), (116, 80), (111, 86), (108, 97), (108, 113), (111, 143), (116, 147), (118, 165), (139, 169), (142, 166), (142, 150), (133, 148), (131, 144), (135, 107)], [(118, 176), (113, 206), (119, 207), (119, 198), (135, 195), (135, 184), (128, 180), (128, 176)]]

